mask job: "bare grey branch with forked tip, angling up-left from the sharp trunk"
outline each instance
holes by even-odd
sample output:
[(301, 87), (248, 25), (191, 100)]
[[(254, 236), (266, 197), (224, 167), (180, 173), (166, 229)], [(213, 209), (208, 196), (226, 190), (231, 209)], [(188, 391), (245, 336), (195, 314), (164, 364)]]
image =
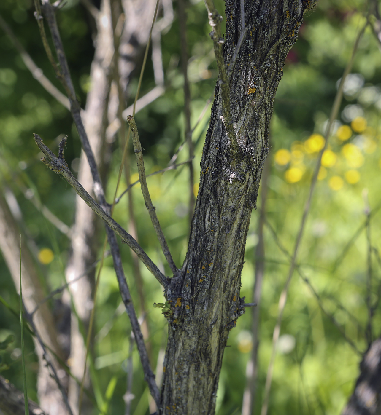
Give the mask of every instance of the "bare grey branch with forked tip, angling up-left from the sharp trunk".
[(103, 207), (98, 205), (96, 201), (86, 192), (82, 187), (81, 183), (73, 176), (69, 170), (66, 161), (64, 159), (59, 159), (55, 154), (50, 151), (50, 149), (43, 143), (42, 138), (38, 134), (34, 134), (34, 141), (36, 142), (39, 149), (47, 156), (47, 158), (42, 157), (41, 161), (50, 168), (50, 170), (61, 174), (66, 181), (76, 190), (76, 192), (81, 196), (85, 203), (91, 207), (91, 209), (99, 216), (101, 219), (120, 236), (122, 242), (128, 244), (128, 246), (138, 255), (140, 260), (145, 264), (147, 269), (152, 273), (157, 281), (162, 284), (164, 288), (168, 286), (168, 280), (163, 275), (157, 266), (151, 261), (145, 251), (140, 247), (140, 245), (135, 241), (135, 239), (125, 231), (111, 216), (108, 215), (103, 210)]

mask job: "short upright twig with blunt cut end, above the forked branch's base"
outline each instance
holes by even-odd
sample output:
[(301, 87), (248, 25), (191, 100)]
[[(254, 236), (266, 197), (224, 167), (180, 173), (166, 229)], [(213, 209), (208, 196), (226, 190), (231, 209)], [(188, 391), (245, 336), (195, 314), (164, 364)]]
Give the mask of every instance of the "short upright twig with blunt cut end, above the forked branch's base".
[(142, 154), (142, 146), (140, 145), (138, 128), (136, 127), (136, 123), (132, 115), (129, 115), (127, 117), (127, 122), (132, 132), (132, 141), (133, 141), (133, 145), (135, 149), (136, 164), (138, 165), (139, 180), (140, 180), (140, 185), (141, 185), (141, 189), (143, 193), (143, 198), (145, 201), (145, 206), (147, 207), (148, 213), (152, 221), (152, 225), (155, 229), (157, 239), (159, 239), (160, 247), (163, 251), (165, 259), (167, 259), (167, 262), (170, 266), (170, 269), (173, 275), (177, 276), (179, 270), (177, 269), (175, 262), (172, 259), (170, 249), (168, 247), (167, 241), (165, 240), (163, 231), (160, 227), (159, 220), (157, 219), (157, 215), (155, 212), (155, 206), (152, 204), (150, 192), (148, 191), (147, 181), (145, 179), (145, 168), (144, 168), (144, 161), (143, 161), (143, 154)]

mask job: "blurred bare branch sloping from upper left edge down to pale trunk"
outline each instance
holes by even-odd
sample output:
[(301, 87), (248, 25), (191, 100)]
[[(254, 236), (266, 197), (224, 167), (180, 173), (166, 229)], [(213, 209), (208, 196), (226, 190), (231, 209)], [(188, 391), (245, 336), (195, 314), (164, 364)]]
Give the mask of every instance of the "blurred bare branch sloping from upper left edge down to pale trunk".
[(8, 24), (5, 22), (5, 20), (0, 16), (0, 27), (4, 30), (4, 32), (8, 35), (12, 43), (14, 44), (17, 51), (20, 53), (21, 59), (24, 61), (25, 66), (29, 69), (29, 71), (32, 73), (32, 76), (34, 79), (36, 79), (42, 87), (49, 92), (50, 95), (52, 95), (53, 98), (55, 98), (59, 103), (61, 103), (65, 108), (70, 110), (70, 103), (68, 98), (61, 93), (59, 89), (57, 89), (50, 81), (49, 79), (44, 75), (42, 72), (42, 69), (39, 68), (33, 61), (33, 59), (30, 57), (28, 52), (24, 49), (24, 46), (20, 43), (20, 41), (17, 39), (15, 34), (12, 32), (12, 29)]

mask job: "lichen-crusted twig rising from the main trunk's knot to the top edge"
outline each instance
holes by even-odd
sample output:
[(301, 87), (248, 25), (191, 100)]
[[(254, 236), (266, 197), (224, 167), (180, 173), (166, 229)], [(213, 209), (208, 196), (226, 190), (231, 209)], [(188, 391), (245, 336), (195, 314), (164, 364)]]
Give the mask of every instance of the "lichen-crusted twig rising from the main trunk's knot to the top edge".
[(217, 12), (216, 7), (214, 7), (213, 0), (204, 0), (204, 3), (206, 10), (208, 10), (209, 24), (212, 28), (210, 37), (213, 39), (214, 54), (216, 56), (216, 63), (219, 73), (218, 83), (222, 92), (223, 117), (221, 119), (224, 122), (231, 149), (234, 151), (234, 153), (238, 154), (239, 145), (236, 133), (234, 132), (233, 123), (231, 122), (229, 76), (224, 62), (224, 48), (222, 46), (225, 43), (221, 32), (222, 16), (219, 14), (219, 12)]

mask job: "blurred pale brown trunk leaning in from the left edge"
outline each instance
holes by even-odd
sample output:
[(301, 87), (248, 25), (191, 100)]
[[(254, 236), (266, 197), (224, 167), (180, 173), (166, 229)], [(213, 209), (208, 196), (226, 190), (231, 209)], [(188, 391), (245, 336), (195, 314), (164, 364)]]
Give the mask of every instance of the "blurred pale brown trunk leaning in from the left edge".
[[(20, 265), (19, 265), (19, 244), (20, 229), (12, 217), (8, 206), (0, 193), (0, 250), (5, 259), (8, 269), (12, 275), (16, 290), (19, 291), (20, 284)], [(21, 243), (21, 272), (22, 272), (22, 299), (28, 312), (32, 312), (36, 305), (44, 298), (45, 293), (42, 289), (36, 264), (33, 261), (26, 244), (25, 238)], [(34, 324), (45, 344), (52, 348), (58, 356), (64, 359), (64, 354), (57, 342), (58, 333), (54, 324), (52, 312), (49, 310), (47, 303), (39, 306), (33, 316)], [(37, 392), (39, 395), (41, 408), (47, 413), (66, 414), (66, 407), (62, 399), (61, 392), (57, 383), (50, 376), (43, 359), (43, 350), (34, 338), (35, 351), (39, 360), (39, 371), (37, 378)], [(50, 356), (56, 368), (57, 362), (54, 356)], [(1, 400), (0, 400), (1, 401)]]

